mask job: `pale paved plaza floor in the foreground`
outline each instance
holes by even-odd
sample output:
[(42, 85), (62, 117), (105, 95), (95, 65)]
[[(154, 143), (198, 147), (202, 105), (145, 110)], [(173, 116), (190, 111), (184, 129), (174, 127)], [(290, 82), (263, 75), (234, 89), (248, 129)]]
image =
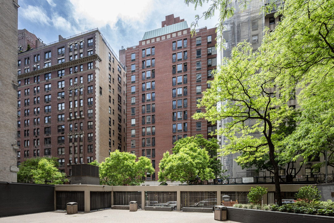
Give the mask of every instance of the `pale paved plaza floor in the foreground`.
[(182, 211), (144, 211), (130, 212), (128, 210), (106, 209), (90, 213), (78, 212), (68, 215), (66, 211), (49, 211), (35, 214), (16, 215), (0, 218), (0, 222), (93, 222), (93, 223), (234, 223), (233, 221), (214, 220), (213, 213), (192, 213)]

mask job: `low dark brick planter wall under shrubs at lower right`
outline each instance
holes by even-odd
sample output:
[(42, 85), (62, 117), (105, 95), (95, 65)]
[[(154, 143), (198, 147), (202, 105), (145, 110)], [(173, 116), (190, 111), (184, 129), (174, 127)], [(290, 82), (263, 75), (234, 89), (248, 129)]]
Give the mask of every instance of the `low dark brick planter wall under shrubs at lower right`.
[(242, 223), (332, 223), (334, 217), (227, 207), (227, 220)]

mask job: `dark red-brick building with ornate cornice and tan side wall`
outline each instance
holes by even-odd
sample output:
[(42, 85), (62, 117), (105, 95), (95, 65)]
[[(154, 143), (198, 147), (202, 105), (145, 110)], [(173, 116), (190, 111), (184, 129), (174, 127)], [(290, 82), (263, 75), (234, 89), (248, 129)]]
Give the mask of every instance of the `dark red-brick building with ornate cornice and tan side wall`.
[(18, 53), (18, 165), (53, 156), (70, 175), (126, 151), (125, 69), (101, 32), (36, 45)]

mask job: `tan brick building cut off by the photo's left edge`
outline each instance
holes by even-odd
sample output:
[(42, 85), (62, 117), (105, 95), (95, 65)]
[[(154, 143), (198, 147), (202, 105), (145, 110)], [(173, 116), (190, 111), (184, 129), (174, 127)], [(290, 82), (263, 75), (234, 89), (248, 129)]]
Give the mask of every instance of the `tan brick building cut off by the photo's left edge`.
[(19, 5), (15, 1), (2, 1), (0, 7), (0, 181), (16, 182), (16, 34), (17, 34), (17, 10)]

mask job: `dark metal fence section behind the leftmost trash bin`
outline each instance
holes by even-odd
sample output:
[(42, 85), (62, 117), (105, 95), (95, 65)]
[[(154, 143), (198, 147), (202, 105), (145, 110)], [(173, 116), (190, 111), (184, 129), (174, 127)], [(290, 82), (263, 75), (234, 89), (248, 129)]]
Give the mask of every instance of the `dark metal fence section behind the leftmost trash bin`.
[(57, 191), (56, 209), (66, 210), (69, 202), (78, 203), (78, 211), (85, 211), (85, 192), (83, 191)]

